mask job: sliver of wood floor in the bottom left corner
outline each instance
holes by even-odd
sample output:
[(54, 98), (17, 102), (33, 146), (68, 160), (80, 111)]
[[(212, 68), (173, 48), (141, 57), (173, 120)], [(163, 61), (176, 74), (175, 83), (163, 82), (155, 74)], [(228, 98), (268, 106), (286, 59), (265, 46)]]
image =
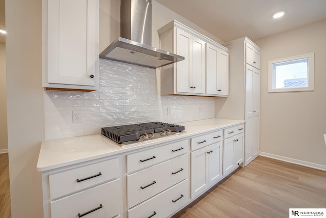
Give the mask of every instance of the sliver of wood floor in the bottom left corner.
[(0, 154), (0, 217), (11, 218), (8, 153)]

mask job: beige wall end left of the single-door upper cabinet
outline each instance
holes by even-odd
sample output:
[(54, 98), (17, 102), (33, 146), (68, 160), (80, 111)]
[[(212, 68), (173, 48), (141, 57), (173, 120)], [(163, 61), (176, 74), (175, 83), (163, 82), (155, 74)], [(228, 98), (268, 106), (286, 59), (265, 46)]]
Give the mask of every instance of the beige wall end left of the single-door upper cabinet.
[(41, 174), (44, 139), (41, 81), (41, 0), (6, 0), (8, 150), (12, 217), (43, 217)]

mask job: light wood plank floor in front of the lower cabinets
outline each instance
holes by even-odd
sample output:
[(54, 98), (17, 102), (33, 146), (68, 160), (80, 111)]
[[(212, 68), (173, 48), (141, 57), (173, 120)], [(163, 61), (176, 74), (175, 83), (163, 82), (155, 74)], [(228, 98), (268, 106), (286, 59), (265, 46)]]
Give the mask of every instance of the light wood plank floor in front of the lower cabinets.
[(326, 208), (326, 172), (259, 156), (173, 217), (289, 217)]

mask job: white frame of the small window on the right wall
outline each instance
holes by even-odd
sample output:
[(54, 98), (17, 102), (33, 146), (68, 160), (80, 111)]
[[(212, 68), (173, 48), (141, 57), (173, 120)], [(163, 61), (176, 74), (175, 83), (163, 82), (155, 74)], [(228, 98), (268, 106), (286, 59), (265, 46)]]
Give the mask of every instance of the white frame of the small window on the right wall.
[[(298, 88), (275, 88), (275, 72), (273, 70), (273, 64), (285, 61), (295, 61), (297, 59), (308, 58), (308, 75), (307, 75), (307, 87)], [(298, 92), (298, 91), (313, 91), (314, 90), (314, 53), (308, 53), (306, 55), (294, 56), (290, 58), (283, 58), (273, 61), (268, 61), (268, 92)]]

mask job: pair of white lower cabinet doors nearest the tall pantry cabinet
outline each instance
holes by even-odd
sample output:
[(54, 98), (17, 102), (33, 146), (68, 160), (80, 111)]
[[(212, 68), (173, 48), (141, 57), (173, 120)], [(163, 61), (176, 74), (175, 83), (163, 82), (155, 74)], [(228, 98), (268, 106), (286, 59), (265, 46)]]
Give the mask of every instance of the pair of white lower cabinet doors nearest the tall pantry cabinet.
[(239, 133), (224, 140), (223, 175), (231, 173), (243, 162), (244, 134)]

